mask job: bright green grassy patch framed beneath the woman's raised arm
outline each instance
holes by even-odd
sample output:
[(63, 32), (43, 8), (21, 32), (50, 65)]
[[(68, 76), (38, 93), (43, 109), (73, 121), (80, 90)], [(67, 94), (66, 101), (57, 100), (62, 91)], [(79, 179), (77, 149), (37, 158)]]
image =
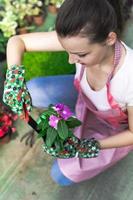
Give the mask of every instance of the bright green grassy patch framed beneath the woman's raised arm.
[(66, 52), (27, 52), (23, 60), (25, 78), (30, 80), (40, 76), (74, 74), (75, 65), (70, 65), (67, 60)]

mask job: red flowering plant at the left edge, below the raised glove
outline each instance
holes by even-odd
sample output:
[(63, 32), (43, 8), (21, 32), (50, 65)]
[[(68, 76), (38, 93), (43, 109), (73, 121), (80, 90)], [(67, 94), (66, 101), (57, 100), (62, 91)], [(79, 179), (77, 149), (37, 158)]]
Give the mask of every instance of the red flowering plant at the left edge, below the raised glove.
[(16, 131), (13, 125), (16, 119), (17, 115), (0, 104), (0, 144), (10, 141), (12, 134)]

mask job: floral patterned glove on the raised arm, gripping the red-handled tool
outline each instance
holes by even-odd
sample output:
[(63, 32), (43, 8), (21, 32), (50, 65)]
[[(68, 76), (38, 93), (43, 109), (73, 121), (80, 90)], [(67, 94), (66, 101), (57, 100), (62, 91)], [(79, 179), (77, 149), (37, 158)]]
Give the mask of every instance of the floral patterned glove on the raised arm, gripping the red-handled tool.
[(29, 113), (32, 109), (31, 97), (27, 90), (24, 66), (14, 65), (7, 69), (4, 83), (3, 102), (10, 106), (11, 110), (19, 116)]

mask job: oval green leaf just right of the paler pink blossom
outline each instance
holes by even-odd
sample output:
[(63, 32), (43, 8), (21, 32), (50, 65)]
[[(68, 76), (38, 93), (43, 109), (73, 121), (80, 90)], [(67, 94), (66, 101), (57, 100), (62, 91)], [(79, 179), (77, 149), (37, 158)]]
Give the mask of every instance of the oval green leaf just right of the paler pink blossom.
[(58, 122), (57, 131), (61, 139), (65, 140), (66, 138), (68, 138), (68, 127), (65, 121), (60, 120)]

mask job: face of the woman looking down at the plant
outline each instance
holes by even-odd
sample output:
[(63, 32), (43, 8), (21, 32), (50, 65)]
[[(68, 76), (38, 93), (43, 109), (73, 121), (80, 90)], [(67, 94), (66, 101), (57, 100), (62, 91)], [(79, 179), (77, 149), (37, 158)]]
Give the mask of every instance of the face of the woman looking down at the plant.
[(81, 36), (58, 37), (62, 47), (69, 55), (69, 63), (80, 63), (91, 67), (102, 63), (109, 53), (109, 46), (89, 43), (88, 38)]

